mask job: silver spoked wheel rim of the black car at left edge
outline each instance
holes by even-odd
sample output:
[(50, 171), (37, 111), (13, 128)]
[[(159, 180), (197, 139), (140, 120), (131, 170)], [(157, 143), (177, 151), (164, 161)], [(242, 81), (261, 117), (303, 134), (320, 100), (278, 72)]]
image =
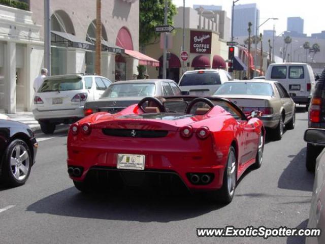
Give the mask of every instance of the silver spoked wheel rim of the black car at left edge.
[(23, 145), (16, 145), (12, 150), (10, 168), (15, 179), (23, 180), (27, 177), (29, 171), (29, 155)]

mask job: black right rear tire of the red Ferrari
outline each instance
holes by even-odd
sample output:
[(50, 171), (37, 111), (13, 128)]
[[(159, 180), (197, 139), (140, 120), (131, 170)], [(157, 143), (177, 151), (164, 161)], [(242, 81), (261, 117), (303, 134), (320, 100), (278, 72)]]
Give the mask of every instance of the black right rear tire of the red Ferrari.
[[(235, 168), (233, 169), (235, 172), (235, 183), (233, 186), (233, 189), (229, 189), (228, 187), (228, 179), (229, 179), (229, 175), (228, 175), (228, 163), (230, 160), (230, 157), (234, 157), (235, 159)], [(228, 153), (228, 160), (227, 160), (227, 164), (226, 167), (224, 169), (224, 173), (223, 173), (223, 181), (222, 181), (222, 187), (221, 189), (211, 192), (211, 197), (214, 201), (223, 203), (223, 204), (228, 204), (230, 203), (235, 195), (235, 189), (236, 189), (236, 184), (237, 184), (237, 159), (236, 159), (236, 150), (233, 146), (231, 146), (229, 148), (229, 153)]]

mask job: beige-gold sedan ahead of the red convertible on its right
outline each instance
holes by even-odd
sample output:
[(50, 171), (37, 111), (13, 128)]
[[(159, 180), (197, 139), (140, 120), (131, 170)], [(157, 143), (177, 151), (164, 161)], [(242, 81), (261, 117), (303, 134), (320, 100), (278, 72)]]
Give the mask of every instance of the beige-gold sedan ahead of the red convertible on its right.
[(284, 127), (295, 128), (295, 102), (277, 81), (229, 81), (223, 83), (214, 96), (230, 99), (245, 114), (254, 109), (263, 112), (264, 126), (273, 129), (278, 140), (282, 138)]

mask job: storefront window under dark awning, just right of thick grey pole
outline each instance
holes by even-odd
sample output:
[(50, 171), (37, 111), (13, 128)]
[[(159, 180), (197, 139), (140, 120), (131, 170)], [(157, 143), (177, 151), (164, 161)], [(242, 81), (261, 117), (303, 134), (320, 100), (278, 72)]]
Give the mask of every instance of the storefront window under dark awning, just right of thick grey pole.
[(51, 75), (62, 75), (67, 73), (67, 49), (51, 47)]

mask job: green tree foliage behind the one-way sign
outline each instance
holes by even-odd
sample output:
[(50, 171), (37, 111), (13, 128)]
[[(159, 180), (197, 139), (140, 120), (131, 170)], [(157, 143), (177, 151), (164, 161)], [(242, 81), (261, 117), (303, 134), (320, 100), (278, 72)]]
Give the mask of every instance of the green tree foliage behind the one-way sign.
[[(172, 0), (168, 0), (168, 24), (173, 24), (173, 17), (177, 13)], [(154, 26), (164, 24), (165, 0), (140, 0), (140, 32), (139, 44), (144, 46), (156, 43), (159, 34), (154, 32)]]

